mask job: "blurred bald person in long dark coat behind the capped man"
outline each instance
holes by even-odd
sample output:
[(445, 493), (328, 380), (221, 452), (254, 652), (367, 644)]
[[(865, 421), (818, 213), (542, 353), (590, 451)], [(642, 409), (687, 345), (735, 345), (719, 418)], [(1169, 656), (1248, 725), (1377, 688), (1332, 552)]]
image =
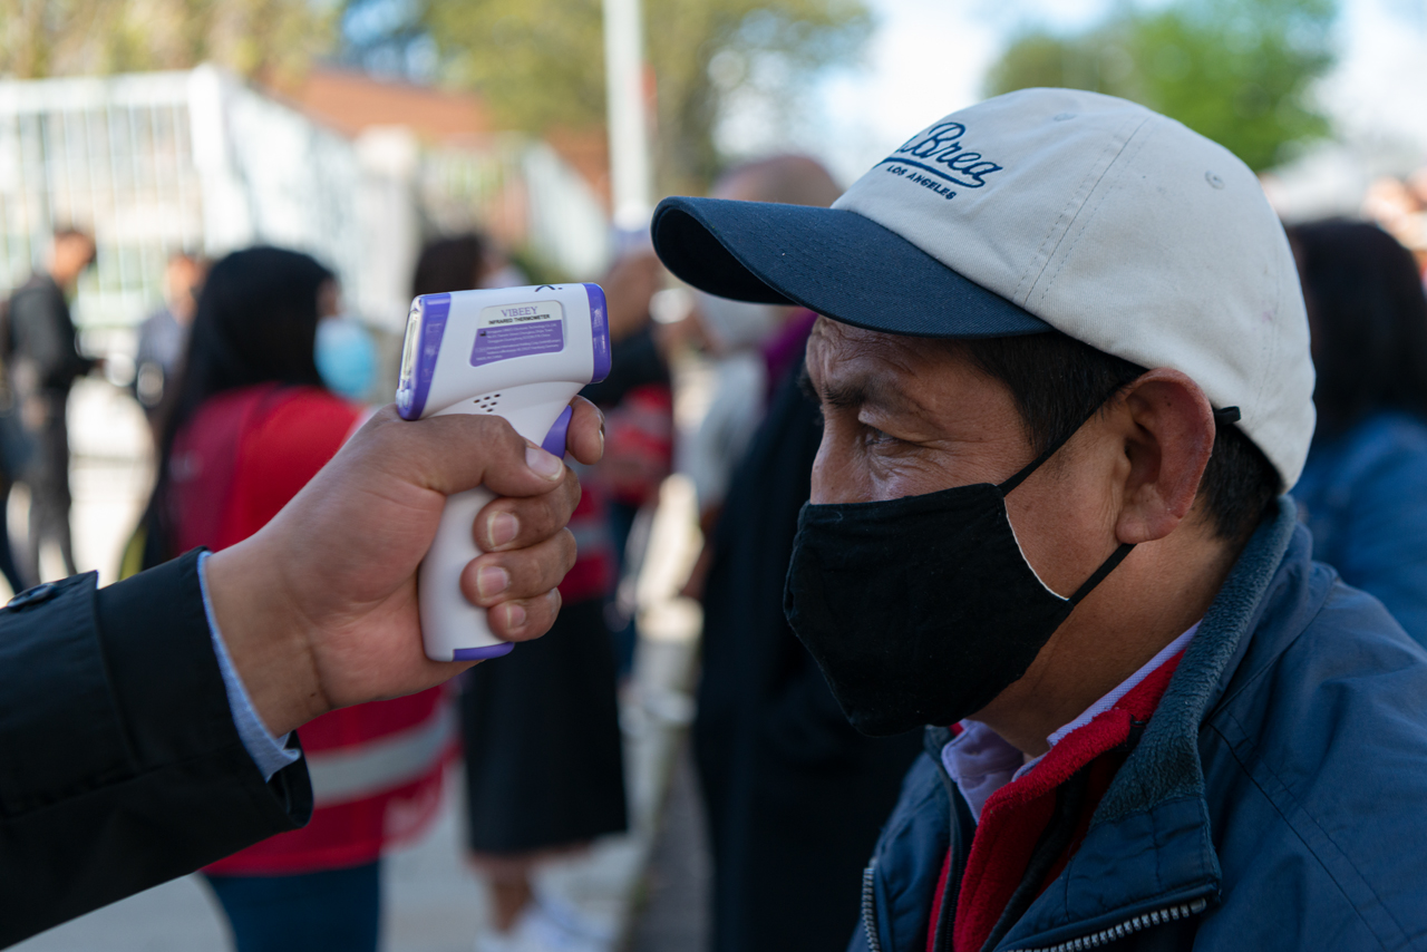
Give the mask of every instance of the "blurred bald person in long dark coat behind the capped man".
[[(841, 190), (811, 158), (781, 156), (733, 168), (714, 194), (829, 206)], [(722, 435), (709, 444), (739, 452), (749, 440), (741, 431), (756, 428), (741, 461), (702, 457), (722, 470), (704, 485), (728, 490), (699, 500), (716, 528), (691, 579), (705, 609), (694, 741), (714, 846), (712, 949), (839, 948), (856, 922), (862, 866), (922, 739), (858, 734), (783, 617), (798, 512), (822, 440), (816, 400), (799, 385), (816, 315), (698, 300), (705, 335), (739, 355), (731, 381), (749, 391), (738, 417), (715, 420)]]

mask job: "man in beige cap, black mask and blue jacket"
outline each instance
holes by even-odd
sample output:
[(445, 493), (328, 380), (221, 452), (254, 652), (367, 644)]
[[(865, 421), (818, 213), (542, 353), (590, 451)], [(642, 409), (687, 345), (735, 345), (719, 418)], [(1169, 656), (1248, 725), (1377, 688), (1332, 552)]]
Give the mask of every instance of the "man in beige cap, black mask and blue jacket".
[(1281, 495), (1313, 368), (1243, 163), (1023, 90), (654, 240), (822, 315), (788, 617), (858, 728), (930, 725), (853, 948), (1427, 948), (1427, 655)]

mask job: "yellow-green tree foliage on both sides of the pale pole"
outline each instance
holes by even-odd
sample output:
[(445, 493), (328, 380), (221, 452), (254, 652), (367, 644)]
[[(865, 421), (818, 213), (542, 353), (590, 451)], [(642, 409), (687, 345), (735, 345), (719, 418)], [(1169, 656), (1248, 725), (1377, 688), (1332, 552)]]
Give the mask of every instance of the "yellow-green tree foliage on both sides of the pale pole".
[[(420, 17), (445, 80), (479, 91), (502, 124), (545, 133), (604, 127), (601, 9), (599, 0), (425, 0)], [(715, 128), (741, 93), (795, 100), (818, 70), (856, 56), (870, 29), (862, 0), (645, 0), (644, 17), (656, 167), (678, 190), (718, 173)]]

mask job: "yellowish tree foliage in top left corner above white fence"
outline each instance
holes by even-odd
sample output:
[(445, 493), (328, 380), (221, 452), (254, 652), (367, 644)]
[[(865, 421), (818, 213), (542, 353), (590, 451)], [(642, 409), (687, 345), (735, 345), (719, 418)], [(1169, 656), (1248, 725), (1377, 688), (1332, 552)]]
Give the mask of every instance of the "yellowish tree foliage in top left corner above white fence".
[(283, 83), (332, 46), (337, 7), (310, 0), (0, 0), (0, 74), (188, 69)]

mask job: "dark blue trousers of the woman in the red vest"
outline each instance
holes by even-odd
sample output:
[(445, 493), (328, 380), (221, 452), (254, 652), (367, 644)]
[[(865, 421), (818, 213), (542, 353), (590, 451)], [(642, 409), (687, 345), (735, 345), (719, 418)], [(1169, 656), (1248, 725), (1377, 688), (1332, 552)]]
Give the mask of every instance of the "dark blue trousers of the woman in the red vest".
[(207, 876), (237, 952), (377, 952), (381, 861), (291, 876)]

